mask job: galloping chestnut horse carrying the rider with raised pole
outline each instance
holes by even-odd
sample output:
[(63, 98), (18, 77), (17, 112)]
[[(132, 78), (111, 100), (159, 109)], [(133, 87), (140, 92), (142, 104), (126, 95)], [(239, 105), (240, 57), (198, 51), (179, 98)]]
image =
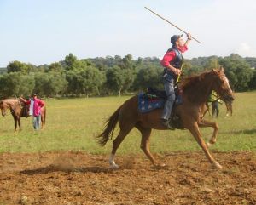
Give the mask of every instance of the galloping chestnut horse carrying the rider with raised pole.
[[(206, 71), (195, 77), (184, 78), (179, 88), (183, 89), (183, 104), (177, 105), (174, 112), (180, 117), (183, 128), (187, 128), (194, 136), (197, 143), (205, 152), (209, 162), (216, 168), (222, 168), (208, 151), (208, 145), (216, 142), (218, 125), (216, 122), (202, 119), (202, 116), (206, 109), (208, 96), (212, 93), (212, 90), (215, 90), (222, 100), (230, 102), (230, 106), (231, 102), (234, 100), (234, 94), (232, 93), (227, 77), (224, 75), (223, 68)], [(162, 109), (156, 109), (148, 113), (140, 113), (138, 111), (138, 96), (133, 96), (131, 99), (126, 100), (125, 103), (108, 118), (102, 134), (99, 134), (97, 139), (99, 145), (105, 145), (108, 140), (112, 138), (114, 128), (117, 122), (119, 122), (120, 131), (115, 140), (113, 140), (113, 149), (109, 157), (109, 163), (112, 168), (119, 168), (119, 165), (114, 162), (115, 153), (120, 143), (125, 139), (125, 136), (129, 134), (134, 127), (142, 134), (140, 147), (148, 159), (154, 166), (165, 166), (165, 164), (157, 162), (149, 151), (149, 136), (152, 128), (159, 130), (166, 129), (160, 123), (161, 113)], [(202, 139), (199, 127), (212, 127), (214, 129), (208, 145)]]

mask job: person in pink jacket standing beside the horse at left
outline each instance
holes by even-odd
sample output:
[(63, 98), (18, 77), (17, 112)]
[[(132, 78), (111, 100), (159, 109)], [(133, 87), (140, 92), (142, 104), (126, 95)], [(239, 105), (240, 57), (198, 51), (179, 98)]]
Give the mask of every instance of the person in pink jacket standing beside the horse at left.
[(45, 105), (44, 101), (38, 99), (37, 94), (33, 94), (33, 97), (30, 100), (25, 100), (23, 98), (20, 98), (20, 100), (26, 103), (26, 105), (30, 105), (29, 115), (32, 115), (34, 129), (38, 130), (40, 128), (41, 108)]

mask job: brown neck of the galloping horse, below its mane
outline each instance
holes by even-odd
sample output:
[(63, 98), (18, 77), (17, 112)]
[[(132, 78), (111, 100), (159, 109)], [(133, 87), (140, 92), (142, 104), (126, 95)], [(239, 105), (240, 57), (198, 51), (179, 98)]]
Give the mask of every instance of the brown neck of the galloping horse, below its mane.
[(212, 78), (209, 76), (206, 76), (200, 82), (195, 83), (188, 89), (187, 94), (189, 100), (198, 105), (206, 103), (212, 92), (212, 83)]

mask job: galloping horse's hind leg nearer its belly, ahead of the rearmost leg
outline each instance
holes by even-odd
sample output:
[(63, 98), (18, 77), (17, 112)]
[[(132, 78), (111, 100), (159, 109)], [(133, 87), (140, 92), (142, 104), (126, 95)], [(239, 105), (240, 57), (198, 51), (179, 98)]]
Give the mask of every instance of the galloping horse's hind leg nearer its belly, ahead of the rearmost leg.
[(145, 153), (145, 155), (148, 157), (148, 159), (154, 164), (154, 166), (164, 166), (164, 164), (160, 164), (158, 163), (153, 155), (150, 152), (150, 148), (149, 148), (149, 137), (151, 134), (151, 128), (143, 128), (142, 125), (137, 124), (135, 126), (142, 134), (142, 141), (141, 141), (141, 149), (143, 150), (143, 152)]

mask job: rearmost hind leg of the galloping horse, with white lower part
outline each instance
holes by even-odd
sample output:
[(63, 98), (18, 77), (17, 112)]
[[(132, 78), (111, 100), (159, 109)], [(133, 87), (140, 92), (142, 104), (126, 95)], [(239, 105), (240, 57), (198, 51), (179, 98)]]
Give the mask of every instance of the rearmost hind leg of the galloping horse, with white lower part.
[(130, 133), (131, 129), (134, 127), (134, 125), (125, 125), (125, 127), (120, 126), (120, 131), (118, 136), (116, 137), (115, 140), (113, 140), (113, 148), (112, 152), (109, 156), (109, 164), (111, 168), (119, 168), (119, 165), (117, 165), (114, 162), (114, 157), (117, 149), (119, 148), (119, 145), (121, 142), (125, 139), (125, 136)]

